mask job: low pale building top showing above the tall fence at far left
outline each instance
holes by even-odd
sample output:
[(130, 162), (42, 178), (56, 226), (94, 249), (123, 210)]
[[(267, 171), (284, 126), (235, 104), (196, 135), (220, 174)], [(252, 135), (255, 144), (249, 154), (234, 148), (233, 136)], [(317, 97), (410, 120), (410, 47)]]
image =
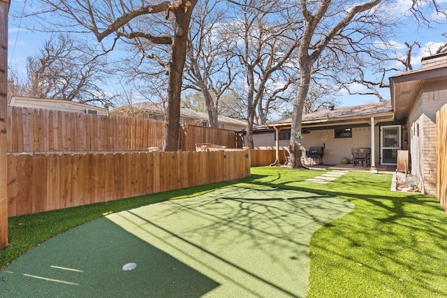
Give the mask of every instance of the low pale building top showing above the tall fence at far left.
[(24, 96), (13, 96), (8, 105), (11, 107), (31, 107), (34, 109), (54, 110), (63, 112), (77, 112), (88, 114), (107, 115), (108, 110), (104, 107), (95, 107), (94, 105), (85, 105), (84, 103), (75, 103), (74, 101), (32, 98)]

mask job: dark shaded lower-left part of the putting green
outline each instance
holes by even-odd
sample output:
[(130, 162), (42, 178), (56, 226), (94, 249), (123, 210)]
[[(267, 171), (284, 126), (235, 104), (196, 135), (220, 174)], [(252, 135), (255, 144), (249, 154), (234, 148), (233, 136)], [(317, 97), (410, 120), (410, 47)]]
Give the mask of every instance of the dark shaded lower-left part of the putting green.
[[(136, 267), (124, 271), (123, 265)], [(43, 242), (0, 271), (2, 297), (203, 297), (211, 278), (98, 218)]]

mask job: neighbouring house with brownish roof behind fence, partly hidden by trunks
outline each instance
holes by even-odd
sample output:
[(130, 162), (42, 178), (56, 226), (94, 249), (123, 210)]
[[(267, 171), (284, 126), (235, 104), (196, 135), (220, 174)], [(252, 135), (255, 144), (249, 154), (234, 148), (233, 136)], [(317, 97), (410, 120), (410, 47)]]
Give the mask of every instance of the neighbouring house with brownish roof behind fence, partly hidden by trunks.
[[(111, 115), (142, 117), (163, 121), (165, 119), (166, 107), (158, 103), (144, 102), (133, 105), (124, 105), (110, 110)], [(219, 128), (239, 131), (247, 127), (247, 122), (240, 119), (219, 116)], [(180, 124), (191, 124), (196, 126), (210, 127), (208, 114), (197, 112), (186, 107), (180, 108)]]

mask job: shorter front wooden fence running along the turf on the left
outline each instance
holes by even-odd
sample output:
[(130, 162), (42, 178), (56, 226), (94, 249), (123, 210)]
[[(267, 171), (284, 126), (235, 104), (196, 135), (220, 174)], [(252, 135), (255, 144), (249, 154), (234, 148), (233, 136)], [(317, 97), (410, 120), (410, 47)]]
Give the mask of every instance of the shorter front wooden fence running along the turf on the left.
[(247, 150), (8, 154), (8, 217), (249, 175)]

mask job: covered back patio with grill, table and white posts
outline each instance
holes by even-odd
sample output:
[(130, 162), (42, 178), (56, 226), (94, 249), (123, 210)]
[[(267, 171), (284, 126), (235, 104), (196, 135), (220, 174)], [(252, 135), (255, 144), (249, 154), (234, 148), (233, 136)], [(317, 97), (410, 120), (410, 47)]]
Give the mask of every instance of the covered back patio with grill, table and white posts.
[[(265, 129), (273, 130), (278, 162), (281, 149), (288, 150), (291, 119), (266, 124)], [(389, 101), (305, 114), (299, 140), (304, 156), (302, 162), (306, 167), (393, 171), (397, 165), (397, 151), (406, 149), (407, 140), (402, 139), (405, 129), (400, 122), (395, 121)], [(309, 156), (311, 147), (322, 148), (320, 161)], [(356, 149), (366, 149), (368, 156), (365, 163), (353, 167), (353, 151)], [(349, 158), (351, 163), (343, 164), (344, 158)]]

